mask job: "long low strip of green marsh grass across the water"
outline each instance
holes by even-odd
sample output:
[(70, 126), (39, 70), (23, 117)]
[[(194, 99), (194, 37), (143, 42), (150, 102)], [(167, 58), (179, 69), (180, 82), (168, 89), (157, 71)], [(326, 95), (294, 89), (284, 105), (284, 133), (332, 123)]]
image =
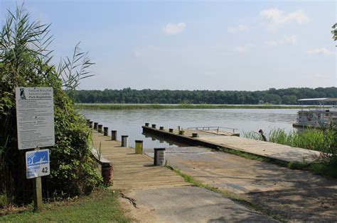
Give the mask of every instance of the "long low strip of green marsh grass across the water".
[[(109, 104), (109, 103), (76, 103), (77, 109), (309, 109), (314, 105), (210, 105), (210, 104)], [(328, 106), (324, 108), (330, 108)]]

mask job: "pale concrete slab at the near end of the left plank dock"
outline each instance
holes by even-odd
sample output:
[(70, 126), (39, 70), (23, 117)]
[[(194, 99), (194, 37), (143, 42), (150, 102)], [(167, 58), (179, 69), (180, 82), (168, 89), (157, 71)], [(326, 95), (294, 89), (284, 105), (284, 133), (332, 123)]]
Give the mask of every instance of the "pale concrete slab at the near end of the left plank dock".
[(141, 222), (277, 222), (204, 188), (145, 189), (127, 195), (139, 206), (128, 205), (133, 215), (147, 213)]

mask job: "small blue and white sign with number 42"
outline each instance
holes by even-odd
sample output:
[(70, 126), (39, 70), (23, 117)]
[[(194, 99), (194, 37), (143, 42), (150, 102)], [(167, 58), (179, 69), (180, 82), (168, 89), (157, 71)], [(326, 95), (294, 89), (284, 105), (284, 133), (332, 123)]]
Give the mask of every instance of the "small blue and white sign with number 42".
[(49, 149), (26, 152), (26, 178), (36, 178), (50, 174)]

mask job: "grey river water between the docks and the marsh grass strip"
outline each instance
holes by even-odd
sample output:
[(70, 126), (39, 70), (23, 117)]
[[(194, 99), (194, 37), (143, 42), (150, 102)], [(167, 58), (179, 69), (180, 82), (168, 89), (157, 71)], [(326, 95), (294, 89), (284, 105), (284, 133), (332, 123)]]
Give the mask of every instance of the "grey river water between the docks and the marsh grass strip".
[(220, 126), (237, 129), (243, 136), (244, 132), (258, 132), (262, 129), (269, 132), (274, 128), (286, 131), (293, 130), (292, 123), (296, 121), (298, 109), (163, 109), (163, 110), (80, 110), (86, 118), (99, 122), (111, 130), (117, 130), (121, 135), (129, 135), (129, 146), (134, 147), (134, 140), (143, 140), (144, 148), (177, 147), (179, 144), (166, 140), (160, 142), (142, 135), (141, 126), (145, 122), (156, 124), (157, 128), (164, 126), (177, 129), (178, 126), (188, 127)]

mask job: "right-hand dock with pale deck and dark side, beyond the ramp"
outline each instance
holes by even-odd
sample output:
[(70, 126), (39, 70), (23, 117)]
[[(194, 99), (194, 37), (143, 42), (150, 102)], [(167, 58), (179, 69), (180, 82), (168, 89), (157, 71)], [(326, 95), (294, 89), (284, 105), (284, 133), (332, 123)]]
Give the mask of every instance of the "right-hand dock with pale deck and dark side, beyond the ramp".
[[(247, 139), (243, 137), (217, 135), (212, 132), (203, 132), (199, 130), (184, 130), (184, 135), (179, 135), (178, 130), (169, 132), (168, 130), (158, 130), (153, 127), (143, 126), (143, 132), (149, 132), (152, 135), (166, 137), (171, 140), (176, 140), (183, 144), (191, 146), (202, 146), (212, 149), (234, 149), (244, 151), (249, 154), (264, 156), (269, 159), (275, 159), (286, 162), (306, 162), (311, 163), (316, 161), (319, 156), (319, 151), (310, 149), (302, 149), (297, 147), (289, 147), (283, 144), (272, 142), (264, 142), (255, 139)], [(199, 137), (192, 137), (192, 133), (197, 133)]]

